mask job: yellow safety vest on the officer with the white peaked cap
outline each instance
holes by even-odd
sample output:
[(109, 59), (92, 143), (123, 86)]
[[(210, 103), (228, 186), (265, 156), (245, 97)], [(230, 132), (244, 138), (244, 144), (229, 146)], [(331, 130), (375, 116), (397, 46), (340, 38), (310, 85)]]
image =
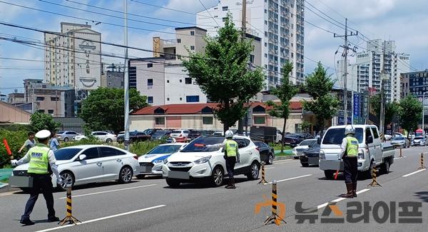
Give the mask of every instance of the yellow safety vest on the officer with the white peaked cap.
[(49, 167), (49, 148), (43, 144), (36, 144), (30, 148), (30, 162), (28, 173), (34, 174), (48, 174)]

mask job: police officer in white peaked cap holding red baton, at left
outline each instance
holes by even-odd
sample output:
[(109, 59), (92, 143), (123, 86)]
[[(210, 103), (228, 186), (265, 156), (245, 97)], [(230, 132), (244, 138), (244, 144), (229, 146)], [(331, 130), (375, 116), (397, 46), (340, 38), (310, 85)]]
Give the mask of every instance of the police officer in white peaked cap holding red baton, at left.
[[(51, 170), (55, 175), (58, 183), (61, 183), (61, 177), (58, 173), (56, 166), (56, 158), (54, 152), (47, 146), (51, 132), (48, 130), (42, 130), (36, 133), (36, 138), (39, 143), (36, 146), (30, 148), (26, 155), (19, 161), (11, 161), (12, 166), (21, 165), (23, 163), (29, 163), (28, 173), (33, 177), (33, 187), (30, 190), (30, 198), (26, 203), (24, 215), (21, 216), (21, 223), (24, 225), (34, 225), (34, 222), (30, 220), (31, 211), (33, 211), (34, 204), (36, 204), (39, 193), (43, 193), (48, 208), (48, 221), (59, 221), (59, 218), (55, 216), (54, 210), (54, 196), (52, 195), (53, 186)], [(49, 168), (50, 167), (50, 168)]]

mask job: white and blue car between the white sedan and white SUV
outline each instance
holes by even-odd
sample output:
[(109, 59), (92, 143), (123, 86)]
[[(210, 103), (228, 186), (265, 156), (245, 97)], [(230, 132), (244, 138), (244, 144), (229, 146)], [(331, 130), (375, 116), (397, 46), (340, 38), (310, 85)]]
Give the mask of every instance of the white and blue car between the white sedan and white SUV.
[(168, 158), (171, 154), (180, 150), (188, 143), (165, 143), (156, 148), (151, 149), (143, 156), (138, 157), (140, 163), (140, 173), (137, 178), (144, 178), (146, 175), (161, 175), (163, 160)]

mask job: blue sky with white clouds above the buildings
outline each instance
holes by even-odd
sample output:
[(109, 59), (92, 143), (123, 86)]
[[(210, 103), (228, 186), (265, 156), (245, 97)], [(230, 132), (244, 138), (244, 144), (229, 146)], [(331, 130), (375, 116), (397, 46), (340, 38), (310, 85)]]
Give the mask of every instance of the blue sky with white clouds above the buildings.
[[(123, 27), (111, 26), (104, 24), (123, 25), (123, 19), (117, 19), (110, 16), (100, 14), (92, 14), (78, 9), (101, 12), (103, 14), (111, 14), (117, 17), (123, 17), (123, 14), (106, 11), (103, 9), (95, 9), (91, 6), (76, 4), (76, 1), (82, 4), (98, 6), (115, 11), (123, 11), (122, 0), (0, 0), (0, 21), (31, 26), (37, 29), (59, 31), (60, 22), (67, 21), (79, 24), (88, 24), (93, 26), (93, 29), (100, 31), (103, 41), (112, 42), (115, 44), (123, 44)], [(136, 0), (147, 4), (165, 6), (170, 9), (195, 13), (203, 10), (203, 6), (198, 0)], [(129, 46), (141, 47), (144, 49), (152, 49), (151, 38), (153, 36), (161, 36), (164, 39), (173, 39), (173, 28), (178, 26), (191, 26), (195, 23), (194, 14), (186, 14), (178, 11), (169, 11), (147, 4), (140, 4), (136, 1), (128, 1), (128, 13), (138, 14), (140, 16), (153, 17), (158, 19), (167, 19), (170, 21), (161, 21), (155, 19), (145, 19), (138, 16), (129, 16), (129, 19), (138, 21), (148, 21), (152, 24), (147, 24), (138, 21), (128, 21), (128, 26), (133, 26), (139, 29), (128, 29)], [(217, 0), (201, 0), (207, 7), (217, 4)], [(263, 0), (255, 0), (263, 1)], [(73, 19), (67, 16), (49, 14), (41, 11), (25, 9), (19, 6), (12, 6), (7, 3), (19, 4), (21, 6), (43, 9), (44, 11), (52, 11), (58, 14), (76, 16), (83, 19)], [(71, 9), (63, 6), (49, 4), (47, 2), (71, 6), (77, 9)], [(428, 64), (426, 54), (428, 51), (428, 17), (424, 9), (428, 7), (428, 1), (424, 0), (307, 0), (308, 3), (315, 6), (320, 11), (324, 12), (331, 18), (337, 21), (345, 21), (344, 16), (350, 19), (350, 26), (360, 31), (370, 39), (392, 39), (396, 41), (397, 51), (411, 54), (411, 65), (416, 69), (426, 69)], [(409, 4), (411, 2), (411, 4)], [(319, 11), (306, 4), (309, 9), (320, 14)], [(321, 14), (322, 15), (322, 14)], [(343, 34), (343, 29), (338, 26), (321, 19), (320, 16), (312, 13), (308, 9), (305, 10), (305, 19), (312, 24)], [(331, 19), (329, 19), (332, 21)], [(101, 21), (101, 24), (95, 25)], [(186, 22), (188, 24), (176, 23), (173, 21)], [(164, 24), (155, 25), (155, 24)], [(213, 25), (214, 26), (214, 25)], [(154, 31), (145, 31), (154, 30)], [(43, 34), (35, 31), (26, 31), (23, 29), (14, 29), (9, 26), (0, 26), (0, 36), (22, 39), (31, 39), (43, 41)], [(352, 38), (351, 42), (365, 47), (365, 41), (358, 38)], [(309, 73), (314, 69), (315, 63), (310, 60), (322, 61), (326, 66), (334, 67), (334, 60), (340, 59), (340, 56), (335, 57), (337, 47), (342, 44), (341, 39), (333, 38), (321, 29), (308, 24), (305, 25), (305, 73)], [(102, 47), (103, 53), (123, 54), (123, 49), (106, 46)], [(130, 56), (151, 56), (150, 53), (144, 51), (130, 50)], [(18, 58), (43, 60), (44, 51), (34, 49), (29, 46), (15, 44), (10, 41), (0, 40), (0, 58)], [(122, 62), (122, 59), (112, 59), (103, 57), (103, 62), (108, 64)], [(333, 69), (329, 69), (330, 74), (334, 74)], [(36, 61), (12, 61), (9, 59), (0, 59), (0, 92), (8, 94), (14, 89), (23, 91), (22, 80), (43, 79), (44, 63)]]

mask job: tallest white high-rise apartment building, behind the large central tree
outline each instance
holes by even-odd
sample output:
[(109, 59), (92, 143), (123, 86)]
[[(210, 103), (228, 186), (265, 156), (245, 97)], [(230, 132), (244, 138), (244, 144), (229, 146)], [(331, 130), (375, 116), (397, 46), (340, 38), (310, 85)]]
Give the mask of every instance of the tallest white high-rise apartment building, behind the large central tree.
[[(246, 6), (246, 32), (261, 41), (261, 63), (265, 69), (265, 90), (280, 84), (282, 66), (293, 64), (290, 80), (295, 84), (304, 81), (304, 1), (300, 0), (249, 0)], [(208, 13), (209, 12), (209, 13)], [(240, 29), (242, 1), (220, 0), (217, 6), (198, 12), (196, 24), (214, 36), (224, 26), (227, 14), (233, 16)]]

